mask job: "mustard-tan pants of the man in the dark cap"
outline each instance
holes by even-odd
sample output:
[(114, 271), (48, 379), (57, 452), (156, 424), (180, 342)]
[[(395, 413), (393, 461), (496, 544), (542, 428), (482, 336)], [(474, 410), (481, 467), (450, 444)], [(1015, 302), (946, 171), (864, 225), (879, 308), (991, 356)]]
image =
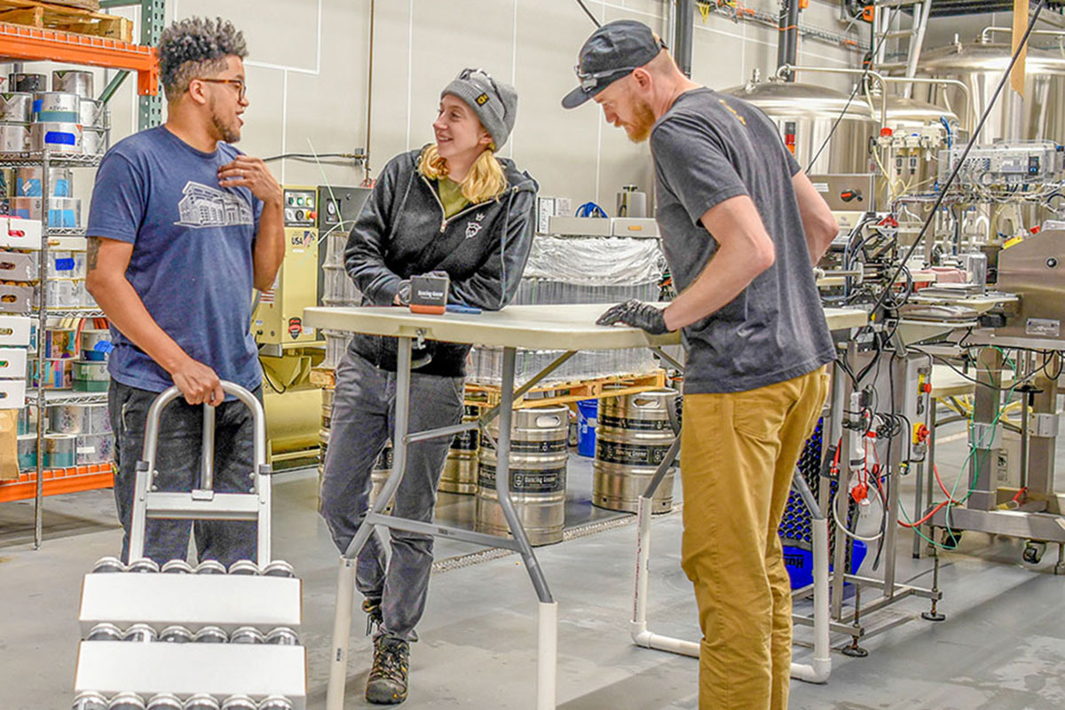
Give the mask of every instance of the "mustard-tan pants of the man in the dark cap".
[(750, 392), (684, 398), (681, 565), (703, 640), (700, 710), (785, 710), (791, 589), (777, 527), (828, 395), (824, 368)]

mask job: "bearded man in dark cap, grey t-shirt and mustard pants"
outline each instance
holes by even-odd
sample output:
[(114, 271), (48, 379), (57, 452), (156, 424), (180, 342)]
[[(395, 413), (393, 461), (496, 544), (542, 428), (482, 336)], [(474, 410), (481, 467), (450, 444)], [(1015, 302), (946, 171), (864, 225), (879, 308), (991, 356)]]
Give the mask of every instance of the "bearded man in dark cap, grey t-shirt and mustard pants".
[(703, 640), (702, 710), (783, 710), (791, 595), (776, 533), (834, 358), (812, 265), (837, 232), (760, 111), (685, 77), (648, 28), (620, 20), (580, 49), (588, 99), (651, 138), (657, 220), (681, 295), (628, 301), (600, 325), (684, 330), (682, 566)]

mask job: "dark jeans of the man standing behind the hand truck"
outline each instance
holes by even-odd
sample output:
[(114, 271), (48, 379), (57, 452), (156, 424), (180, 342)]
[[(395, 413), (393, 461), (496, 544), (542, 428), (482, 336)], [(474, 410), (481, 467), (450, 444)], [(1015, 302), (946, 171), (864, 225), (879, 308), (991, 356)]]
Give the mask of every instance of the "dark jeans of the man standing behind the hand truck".
[[(262, 400), (262, 390), (256, 390)], [(137, 390), (111, 381), (108, 413), (115, 431), (115, 503), (122, 524), (122, 560), (128, 560), (130, 519), (133, 515), (133, 491), (136, 463), (144, 451), (144, 429), (148, 408), (158, 392)], [(255, 441), (251, 411), (243, 402), (227, 400), (215, 411), (214, 490), (219, 493), (249, 493), (255, 468)], [(203, 436), (203, 407), (179, 398), (163, 410), (155, 451), (155, 484), (160, 491), (191, 491), (199, 485), (200, 452)], [(144, 552), (160, 564), (184, 560), (189, 555), (190, 528), (195, 530), (200, 561), (218, 560), (227, 567), (236, 560), (256, 560), (258, 525), (233, 521), (149, 519), (145, 530)]]

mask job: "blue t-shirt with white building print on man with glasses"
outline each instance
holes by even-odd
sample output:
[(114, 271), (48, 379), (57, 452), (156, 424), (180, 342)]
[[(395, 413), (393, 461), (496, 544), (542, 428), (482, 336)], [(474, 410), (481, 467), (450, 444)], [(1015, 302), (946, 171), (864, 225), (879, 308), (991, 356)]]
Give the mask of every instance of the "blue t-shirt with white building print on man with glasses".
[[(133, 245), (126, 278), (148, 313), (194, 360), (223, 380), (262, 382), (251, 336), (252, 249), (262, 201), (247, 187), (218, 186), (218, 168), (240, 151), (196, 150), (166, 128), (116, 144), (96, 174), (87, 236)], [(169, 374), (111, 328), (111, 376), (162, 392)]]

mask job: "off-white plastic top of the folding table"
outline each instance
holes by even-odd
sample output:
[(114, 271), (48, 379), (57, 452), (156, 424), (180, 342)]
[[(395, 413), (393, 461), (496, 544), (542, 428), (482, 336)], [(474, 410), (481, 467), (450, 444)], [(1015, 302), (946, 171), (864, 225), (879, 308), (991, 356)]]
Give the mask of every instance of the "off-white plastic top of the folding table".
[[(652, 336), (639, 328), (596, 326), (595, 319), (607, 308), (603, 303), (509, 306), (478, 314), (424, 315), (403, 307), (318, 307), (304, 311), (304, 323), (393, 337), (416, 337), (421, 331), (433, 341), (541, 350), (621, 350), (681, 342), (676, 332)], [(861, 309), (825, 309), (824, 314), (830, 330), (857, 328), (868, 320)]]

